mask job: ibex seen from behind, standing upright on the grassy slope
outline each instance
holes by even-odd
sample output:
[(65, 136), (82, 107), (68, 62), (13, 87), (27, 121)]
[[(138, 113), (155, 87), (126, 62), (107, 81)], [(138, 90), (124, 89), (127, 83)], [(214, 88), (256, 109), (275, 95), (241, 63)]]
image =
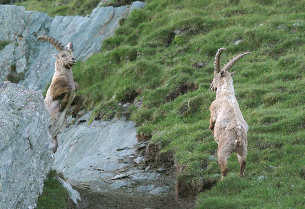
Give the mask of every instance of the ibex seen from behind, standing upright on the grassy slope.
[(232, 76), (236, 71), (233, 73), (228, 71), (242, 56), (252, 54), (242, 52), (230, 59), (221, 69), (220, 55), (224, 50), (226, 49), (220, 48), (216, 53), (214, 79), (210, 85), (211, 90), (216, 92), (216, 99), (210, 106), (210, 130), (218, 143), (217, 158), (221, 168), (221, 180), (228, 173), (227, 158), (233, 152), (237, 153), (240, 164), (239, 176), (244, 175), (246, 168), (248, 124), (242, 117), (234, 95)]

